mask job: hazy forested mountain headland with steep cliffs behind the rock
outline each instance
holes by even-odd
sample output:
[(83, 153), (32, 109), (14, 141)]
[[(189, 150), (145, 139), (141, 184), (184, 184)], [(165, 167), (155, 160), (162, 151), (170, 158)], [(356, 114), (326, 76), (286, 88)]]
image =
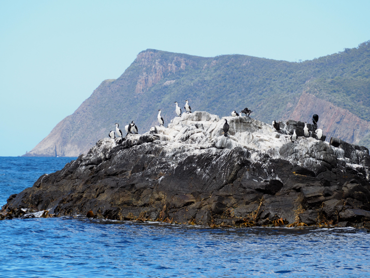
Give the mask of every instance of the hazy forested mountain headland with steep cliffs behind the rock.
[[(103, 81), (74, 114), (25, 156), (75, 157), (132, 120), (144, 133), (176, 116), (174, 102), (220, 117), (245, 107), (262, 121), (312, 122), (324, 134), (370, 146), (370, 41), (301, 63), (246, 55), (205, 58), (147, 49), (118, 78)], [(184, 110), (184, 109), (183, 109)]]

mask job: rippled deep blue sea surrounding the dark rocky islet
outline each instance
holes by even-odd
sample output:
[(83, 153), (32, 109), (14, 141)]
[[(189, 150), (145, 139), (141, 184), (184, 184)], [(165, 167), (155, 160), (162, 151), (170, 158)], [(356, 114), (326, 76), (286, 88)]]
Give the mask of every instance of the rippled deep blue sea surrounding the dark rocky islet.
[[(0, 205), (71, 158), (0, 157)], [(77, 218), (0, 221), (0, 278), (370, 277), (370, 234)]]

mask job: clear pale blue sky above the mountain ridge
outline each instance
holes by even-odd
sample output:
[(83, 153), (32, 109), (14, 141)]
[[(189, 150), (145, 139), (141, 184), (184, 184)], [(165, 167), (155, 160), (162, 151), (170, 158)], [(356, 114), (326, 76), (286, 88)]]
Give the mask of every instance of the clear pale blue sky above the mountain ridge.
[(370, 1), (0, 1), (0, 156), (31, 151), (147, 48), (298, 62), (370, 40)]

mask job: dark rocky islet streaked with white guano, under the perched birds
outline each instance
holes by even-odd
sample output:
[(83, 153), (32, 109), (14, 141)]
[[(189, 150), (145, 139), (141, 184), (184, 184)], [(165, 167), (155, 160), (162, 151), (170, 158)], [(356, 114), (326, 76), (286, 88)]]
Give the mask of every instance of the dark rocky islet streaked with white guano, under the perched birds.
[[(1, 213), (19, 207), (52, 215), (92, 210), (109, 219), (212, 227), (366, 224), (368, 149), (304, 137), (303, 122), (280, 127), (277, 132), (250, 117), (194, 112), (142, 135), (105, 138), (12, 196)], [(308, 128), (314, 133), (313, 125)]]

